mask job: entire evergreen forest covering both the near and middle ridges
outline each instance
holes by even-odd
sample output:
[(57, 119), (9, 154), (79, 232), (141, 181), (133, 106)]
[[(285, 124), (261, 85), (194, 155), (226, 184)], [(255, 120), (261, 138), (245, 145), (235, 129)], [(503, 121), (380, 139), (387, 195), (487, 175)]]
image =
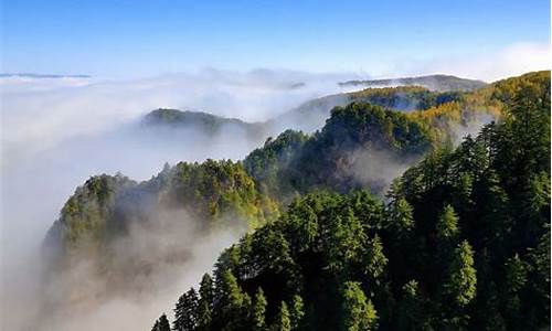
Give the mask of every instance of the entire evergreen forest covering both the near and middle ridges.
[(406, 90), (408, 111), (394, 108), (405, 88), (367, 89), (373, 103), (335, 107), (320, 130), (286, 130), (242, 161), (93, 177), (46, 237), (53, 265), (107, 255), (131, 223), (183, 209), (205, 233), (247, 232), (153, 331), (545, 328), (550, 72)]

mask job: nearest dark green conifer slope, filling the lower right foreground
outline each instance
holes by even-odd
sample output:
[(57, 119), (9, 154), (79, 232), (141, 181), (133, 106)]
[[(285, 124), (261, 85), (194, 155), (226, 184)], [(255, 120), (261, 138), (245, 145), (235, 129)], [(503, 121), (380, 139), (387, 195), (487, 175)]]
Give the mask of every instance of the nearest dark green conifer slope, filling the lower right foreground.
[(173, 329), (548, 328), (549, 77), (498, 84), (501, 121), (435, 148), (385, 200), (362, 190), (295, 199), (182, 293)]

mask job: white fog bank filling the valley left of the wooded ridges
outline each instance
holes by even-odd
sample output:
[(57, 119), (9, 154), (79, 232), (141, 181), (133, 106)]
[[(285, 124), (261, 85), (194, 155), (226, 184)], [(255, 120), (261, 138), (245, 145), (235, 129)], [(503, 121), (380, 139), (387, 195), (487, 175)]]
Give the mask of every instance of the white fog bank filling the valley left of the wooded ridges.
[[(195, 285), (211, 269), (221, 249), (243, 233), (221, 231), (198, 239), (193, 228), (188, 227), (189, 217), (173, 217), (183, 220), (178, 231), (156, 234), (135, 228), (130, 239), (114, 248), (125, 260), (146, 258), (145, 252), (162, 255), (166, 246), (161, 244), (171, 243), (168, 233), (187, 242), (185, 261), (166, 266), (161, 275), (137, 279), (150, 288), (102, 297), (99, 289), (105, 290), (106, 284), (89, 273), (94, 269), (94, 259), (89, 258), (83, 260), (92, 265), (78, 264), (71, 274), (61, 275), (59, 282), (44, 288), (40, 279), (41, 244), (64, 202), (88, 177), (121, 172), (145, 180), (166, 162), (241, 159), (264, 141), (252, 140), (232, 128), (214, 137), (193, 128), (148, 129), (141, 124), (144, 115), (163, 107), (261, 121), (308, 99), (341, 92), (336, 83), (350, 78), (354, 76), (267, 70), (204, 70), (134, 81), (1, 78), (2, 329), (34, 330), (38, 322), (41, 330), (87, 330), (84, 325), (91, 325), (91, 330), (149, 328), (162, 311), (170, 316), (168, 305), (177, 299), (174, 293)], [(146, 246), (128, 248), (136, 238)], [(120, 249), (120, 245), (126, 248)], [(44, 290), (47, 299), (57, 305), (63, 300), (56, 298), (66, 293), (61, 288), (71, 288), (72, 281), (87, 289), (84, 292), (89, 306), (70, 305), (68, 310), (44, 314)], [(124, 327), (118, 324), (121, 322)]]

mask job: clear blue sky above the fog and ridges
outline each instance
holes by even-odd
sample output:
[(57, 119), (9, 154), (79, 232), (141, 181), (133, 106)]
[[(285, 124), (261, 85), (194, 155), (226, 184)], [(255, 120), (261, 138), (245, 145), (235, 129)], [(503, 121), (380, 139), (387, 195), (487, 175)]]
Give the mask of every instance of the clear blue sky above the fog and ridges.
[(2, 72), (390, 72), (550, 44), (550, 1), (6, 0)]

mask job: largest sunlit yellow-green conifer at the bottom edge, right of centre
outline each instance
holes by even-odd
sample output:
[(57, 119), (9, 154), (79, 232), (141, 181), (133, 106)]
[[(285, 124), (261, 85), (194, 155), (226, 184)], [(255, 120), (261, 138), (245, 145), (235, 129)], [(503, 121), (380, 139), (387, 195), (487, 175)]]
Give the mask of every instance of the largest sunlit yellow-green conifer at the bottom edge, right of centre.
[(378, 314), (360, 282), (347, 281), (342, 290), (341, 330), (363, 331), (378, 328)]

